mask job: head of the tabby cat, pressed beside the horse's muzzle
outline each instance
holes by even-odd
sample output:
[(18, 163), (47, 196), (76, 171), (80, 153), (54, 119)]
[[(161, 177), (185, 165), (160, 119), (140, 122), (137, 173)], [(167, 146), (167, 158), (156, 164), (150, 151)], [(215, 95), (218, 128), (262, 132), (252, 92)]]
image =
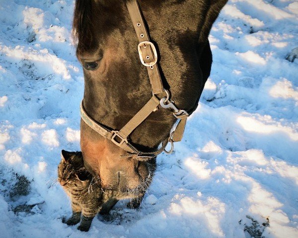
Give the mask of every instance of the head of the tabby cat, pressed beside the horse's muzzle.
[(92, 179), (85, 169), (81, 152), (61, 151), (61, 162), (58, 166), (58, 181), (63, 187), (85, 187)]

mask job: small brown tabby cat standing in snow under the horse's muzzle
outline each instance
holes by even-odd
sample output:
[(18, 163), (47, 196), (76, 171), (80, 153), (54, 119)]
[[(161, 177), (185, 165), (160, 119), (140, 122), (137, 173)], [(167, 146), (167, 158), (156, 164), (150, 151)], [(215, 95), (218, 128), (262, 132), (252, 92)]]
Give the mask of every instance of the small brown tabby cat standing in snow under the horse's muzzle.
[(80, 222), (78, 230), (87, 232), (97, 213), (107, 214), (121, 199), (131, 199), (129, 208), (140, 206), (145, 194), (141, 192), (132, 197), (131, 192), (120, 192), (102, 189), (98, 176), (85, 169), (81, 152), (61, 151), (61, 162), (58, 165), (58, 181), (71, 198), (72, 216), (63, 221), (69, 226)]

